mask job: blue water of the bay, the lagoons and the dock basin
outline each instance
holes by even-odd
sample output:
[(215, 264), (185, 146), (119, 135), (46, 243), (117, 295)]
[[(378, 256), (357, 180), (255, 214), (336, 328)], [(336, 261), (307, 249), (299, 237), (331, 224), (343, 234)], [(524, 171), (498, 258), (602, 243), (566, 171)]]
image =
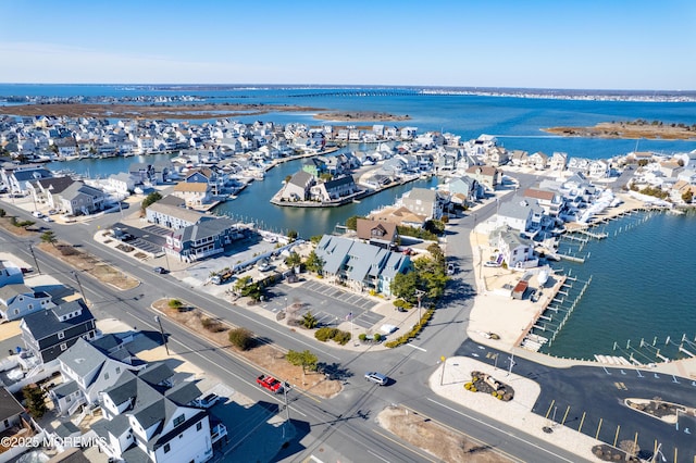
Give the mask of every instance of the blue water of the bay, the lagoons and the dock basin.
[[(330, 111), (378, 111), (408, 114), (411, 120), (395, 125), (411, 125), (420, 130), (443, 130), (461, 135), (462, 139), (490, 134), (508, 149), (530, 153), (567, 152), (570, 157), (606, 159), (630, 151), (687, 152), (696, 149), (696, 140), (604, 140), (563, 138), (545, 134), (551, 126), (583, 126), (599, 122), (662, 121), (696, 124), (696, 103), (569, 101), (483, 96), (421, 96), (385, 92), (364, 95), (337, 89), (239, 88), (164, 90), (148, 86), (102, 85), (0, 85), (2, 96), (136, 96), (195, 95), (215, 102), (274, 103), (312, 107)], [(314, 111), (303, 113), (269, 113), (237, 117), (240, 122), (300, 122), (319, 125)], [(336, 123), (343, 125), (345, 123)], [(356, 125), (371, 125), (355, 122)], [(160, 155), (166, 158), (167, 155)], [(71, 168), (92, 177), (105, 177), (123, 172), (138, 158), (83, 160), (51, 163), (50, 168)], [(286, 175), (300, 168), (290, 162), (268, 173), (264, 182), (254, 182), (239, 197), (217, 208), (216, 212), (243, 220), (254, 220), (264, 228), (286, 232), (295, 229), (302, 237), (331, 233), (351, 215), (364, 215), (387, 205), (403, 191), (414, 187), (433, 187), (436, 179), (418, 180), (362, 200), (331, 210), (277, 208), (268, 202), (281, 188)], [(696, 304), (689, 290), (693, 286), (693, 262), (696, 247), (691, 246), (696, 216), (652, 214), (631, 215), (609, 223), (609, 238), (591, 241), (573, 252), (589, 258), (584, 264), (562, 262), (558, 267), (577, 278), (579, 284), (592, 283), (545, 351), (554, 355), (592, 359), (594, 354), (633, 354), (642, 362), (654, 361), (659, 348), (663, 354), (676, 356), (673, 341), (686, 336), (696, 341)], [(567, 243), (572, 247), (575, 245)], [(575, 286), (573, 291), (577, 291)], [(555, 314), (555, 317), (559, 315)], [(558, 318), (550, 326), (558, 324)], [(548, 333), (547, 333), (548, 334)], [(546, 335), (545, 335), (546, 336)], [(670, 337), (671, 342), (666, 343)], [(644, 347), (639, 348), (641, 340)], [(652, 343), (655, 342), (655, 346)], [(614, 350), (614, 347), (617, 348)], [(637, 348), (637, 349), (636, 349)]]

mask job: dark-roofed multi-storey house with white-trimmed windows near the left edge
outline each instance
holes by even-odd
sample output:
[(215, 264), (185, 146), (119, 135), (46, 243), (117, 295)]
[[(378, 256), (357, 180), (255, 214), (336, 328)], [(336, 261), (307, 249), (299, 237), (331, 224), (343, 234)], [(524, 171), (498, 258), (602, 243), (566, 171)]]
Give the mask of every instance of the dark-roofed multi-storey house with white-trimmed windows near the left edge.
[(95, 339), (95, 316), (85, 302), (77, 299), (25, 315), (20, 328), (26, 349), (44, 364), (48, 364), (55, 361), (77, 339)]

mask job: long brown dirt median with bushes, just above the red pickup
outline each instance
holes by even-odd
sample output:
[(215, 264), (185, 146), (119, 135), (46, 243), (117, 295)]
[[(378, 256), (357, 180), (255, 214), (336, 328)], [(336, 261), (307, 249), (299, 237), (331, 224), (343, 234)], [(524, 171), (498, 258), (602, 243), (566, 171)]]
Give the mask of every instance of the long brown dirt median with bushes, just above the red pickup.
[[(213, 345), (222, 348), (225, 352), (241, 356), (259, 368), (269, 372), (277, 379), (288, 381), (293, 386), (311, 392), (322, 398), (332, 398), (343, 389), (339, 380), (327, 379), (321, 372), (302, 373), (300, 366), (295, 366), (285, 360), (285, 351), (274, 345), (258, 341), (257, 346), (250, 350), (241, 351), (229, 343), (229, 330), (237, 328), (224, 320), (211, 316), (204, 311), (191, 306), (184, 302), (178, 309), (169, 305), (169, 299), (160, 299), (152, 306), (171, 322), (175, 322), (188, 329), (203, 336)], [(208, 326), (208, 328), (206, 328)], [(253, 378), (250, 378), (252, 380)]]

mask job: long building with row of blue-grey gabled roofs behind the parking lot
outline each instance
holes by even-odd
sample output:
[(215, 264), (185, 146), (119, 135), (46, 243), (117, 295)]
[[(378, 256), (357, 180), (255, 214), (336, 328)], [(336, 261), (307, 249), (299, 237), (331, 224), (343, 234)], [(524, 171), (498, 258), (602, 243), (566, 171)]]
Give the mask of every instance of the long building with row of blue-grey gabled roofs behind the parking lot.
[(328, 281), (344, 284), (356, 291), (371, 290), (391, 296), (391, 281), (409, 271), (411, 260), (400, 252), (344, 237), (324, 235), (316, 246)]

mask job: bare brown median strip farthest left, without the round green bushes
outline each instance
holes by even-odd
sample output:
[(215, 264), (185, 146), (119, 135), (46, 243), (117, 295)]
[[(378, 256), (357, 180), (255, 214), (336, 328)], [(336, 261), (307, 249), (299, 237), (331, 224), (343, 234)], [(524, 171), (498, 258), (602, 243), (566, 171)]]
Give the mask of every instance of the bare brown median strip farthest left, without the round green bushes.
[(80, 272), (87, 273), (99, 281), (112, 285), (121, 290), (137, 288), (140, 281), (121, 272), (119, 268), (107, 264), (96, 256), (63, 242), (49, 245), (42, 242), (38, 248), (53, 255), (55, 259), (72, 265)]

